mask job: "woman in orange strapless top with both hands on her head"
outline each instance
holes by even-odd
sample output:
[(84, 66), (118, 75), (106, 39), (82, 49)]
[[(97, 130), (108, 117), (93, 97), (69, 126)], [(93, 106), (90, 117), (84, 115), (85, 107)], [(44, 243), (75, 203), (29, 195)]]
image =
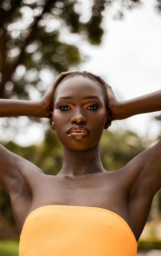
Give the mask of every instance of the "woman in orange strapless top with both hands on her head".
[(102, 166), (99, 143), (111, 121), (159, 110), (161, 90), (119, 102), (99, 76), (77, 71), (61, 73), (41, 101), (0, 99), (0, 117), (49, 118), (64, 150), (54, 176), (0, 145), (19, 255), (136, 255), (161, 188), (161, 141), (115, 172)]

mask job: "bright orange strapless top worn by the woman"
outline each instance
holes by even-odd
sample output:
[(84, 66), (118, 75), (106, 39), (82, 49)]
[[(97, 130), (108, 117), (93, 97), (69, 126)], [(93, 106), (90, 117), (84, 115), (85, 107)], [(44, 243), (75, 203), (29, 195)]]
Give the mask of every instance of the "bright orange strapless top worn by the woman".
[(136, 256), (126, 221), (98, 207), (47, 205), (32, 211), (20, 235), (19, 256)]

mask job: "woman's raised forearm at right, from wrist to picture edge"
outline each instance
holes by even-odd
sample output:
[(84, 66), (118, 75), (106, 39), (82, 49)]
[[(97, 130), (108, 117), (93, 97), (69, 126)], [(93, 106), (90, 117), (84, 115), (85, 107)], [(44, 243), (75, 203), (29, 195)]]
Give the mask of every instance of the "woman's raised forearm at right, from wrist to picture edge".
[(161, 111), (161, 90), (119, 103), (120, 118), (125, 119), (142, 113)]

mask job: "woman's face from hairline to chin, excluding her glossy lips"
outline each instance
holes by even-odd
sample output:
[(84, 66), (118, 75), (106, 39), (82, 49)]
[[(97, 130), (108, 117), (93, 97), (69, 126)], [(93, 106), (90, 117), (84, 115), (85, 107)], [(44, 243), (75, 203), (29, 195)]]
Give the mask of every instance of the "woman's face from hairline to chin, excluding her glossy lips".
[[(94, 98), (87, 98), (91, 96)], [(84, 151), (97, 144), (107, 122), (105, 103), (99, 85), (83, 77), (72, 78), (58, 85), (53, 121), (58, 139), (65, 147), (74, 151)], [(90, 134), (81, 138), (71, 137), (68, 130), (75, 125), (85, 126)]]

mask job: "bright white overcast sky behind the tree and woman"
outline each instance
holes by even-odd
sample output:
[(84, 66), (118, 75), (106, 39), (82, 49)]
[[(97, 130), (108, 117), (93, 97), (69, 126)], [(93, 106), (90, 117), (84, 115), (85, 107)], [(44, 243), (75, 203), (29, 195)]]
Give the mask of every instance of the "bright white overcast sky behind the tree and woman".
[[(80, 2), (83, 8), (88, 9), (90, 1)], [(128, 100), (161, 89), (161, 15), (155, 11), (156, 0), (142, 2), (141, 8), (124, 11), (121, 21), (112, 19), (114, 9), (108, 11), (100, 46), (91, 46), (75, 37), (81, 52), (89, 56), (81, 64), (80, 71), (100, 75), (111, 85), (118, 100)], [(140, 136), (148, 135), (150, 139), (155, 139), (161, 126), (152, 117), (160, 113), (114, 121), (109, 129), (119, 131), (121, 127), (129, 128)], [(24, 130), (18, 134), (15, 142), (27, 146), (43, 139), (41, 126), (33, 125), (27, 132)]]

